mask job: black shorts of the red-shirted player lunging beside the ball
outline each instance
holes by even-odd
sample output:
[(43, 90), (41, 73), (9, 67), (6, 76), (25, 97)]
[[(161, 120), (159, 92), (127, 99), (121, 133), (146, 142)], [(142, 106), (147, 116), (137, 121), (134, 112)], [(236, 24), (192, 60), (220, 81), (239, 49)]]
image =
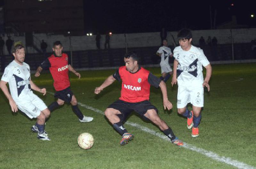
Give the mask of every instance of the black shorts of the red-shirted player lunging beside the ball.
[(144, 120), (150, 121), (147, 117), (144, 116), (145, 113), (147, 113), (150, 109), (155, 109), (156, 113), (158, 114), (158, 110), (155, 106), (153, 106), (148, 100), (137, 102), (137, 103), (129, 103), (125, 102), (123, 100), (117, 100), (111, 105), (108, 106), (108, 108), (113, 108), (116, 110), (119, 110), (122, 114), (123, 119), (121, 121), (125, 121), (126, 118), (132, 113), (132, 111), (135, 111), (138, 113)]

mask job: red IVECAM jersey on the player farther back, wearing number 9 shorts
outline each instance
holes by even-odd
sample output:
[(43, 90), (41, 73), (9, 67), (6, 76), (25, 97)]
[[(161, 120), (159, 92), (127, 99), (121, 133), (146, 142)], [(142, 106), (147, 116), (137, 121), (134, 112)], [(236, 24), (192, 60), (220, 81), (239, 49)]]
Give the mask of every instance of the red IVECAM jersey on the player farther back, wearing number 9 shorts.
[(53, 86), (56, 91), (64, 90), (70, 86), (68, 77), (68, 55), (62, 53), (61, 56), (52, 54), (40, 65), (43, 69), (50, 70), (54, 80)]

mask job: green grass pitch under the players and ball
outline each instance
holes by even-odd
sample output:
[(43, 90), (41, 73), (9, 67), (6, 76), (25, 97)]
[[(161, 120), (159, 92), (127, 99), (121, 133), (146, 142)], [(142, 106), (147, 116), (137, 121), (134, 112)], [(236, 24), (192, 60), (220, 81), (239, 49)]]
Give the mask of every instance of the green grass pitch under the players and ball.
[[(160, 76), (160, 68), (148, 68)], [(80, 123), (71, 106), (52, 112), (45, 130), (51, 141), (41, 141), (30, 131), (35, 119), (12, 113), (9, 102), (0, 92), (0, 168), (256, 168), (256, 64), (212, 65), (210, 92), (204, 93), (204, 110), (199, 137), (192, 138), (186, 119), (177, 114), (177, 85), (167, 82), (172, 111), (164, 111), (160, 89), (151, 88), (150, 101), (159, 116), (185, 142), (178, 147), (166, 140), (151, 123), (133, 114), (124, 125), (134, 139), (120, 146), (121, 136), (109, 125), (102, 112), (120, 96), (121, 83), (114, 82), (99, 95), (95, 87), (115, 70), (80, 71), (82, 78), (70, 74), (71, 89), (81, 111), (94, 117), (90, 123)], [(54, 92), (48, 73), (32, 80), (48, 92)], [(39, 95), (46, 105), (53, 95)], [(87, 109), (93, 107), (94, 109)], [(191, 107), (189, 107), (191, 109)], [(143, 128), (144, 127), (144, 128)], [(83, 150), (77, 145), (80, 133), (89, 132), (94, 145)], [(151, 134), (151, 133), (153, 134)], [(163, 139), (164, 138), (164, 139)], [(232, 165), (231, 165), (232, 164)]]

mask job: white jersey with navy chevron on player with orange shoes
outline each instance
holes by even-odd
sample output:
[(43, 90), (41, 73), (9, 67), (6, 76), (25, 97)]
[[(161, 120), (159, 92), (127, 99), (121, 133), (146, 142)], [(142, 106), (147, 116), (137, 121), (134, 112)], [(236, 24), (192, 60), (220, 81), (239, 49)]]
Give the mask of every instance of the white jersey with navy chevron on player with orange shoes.
[(203, 66), (210, 64), (202, 49), (191, 45), (188, 51), (180, 46), (173, 50), (173, 57), (179, 62), (177, 66), (178, 85), (198, 86), (204, 82)]

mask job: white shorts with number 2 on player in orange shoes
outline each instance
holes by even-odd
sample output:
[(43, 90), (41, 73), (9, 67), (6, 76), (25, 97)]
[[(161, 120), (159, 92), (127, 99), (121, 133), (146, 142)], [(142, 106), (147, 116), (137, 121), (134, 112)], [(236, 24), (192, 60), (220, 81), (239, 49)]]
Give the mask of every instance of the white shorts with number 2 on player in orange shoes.
[(186, 107), (191, 103), (196, 107), (204, 107), (204, 88), (195, 86), (178, 86), (177, 108)]

